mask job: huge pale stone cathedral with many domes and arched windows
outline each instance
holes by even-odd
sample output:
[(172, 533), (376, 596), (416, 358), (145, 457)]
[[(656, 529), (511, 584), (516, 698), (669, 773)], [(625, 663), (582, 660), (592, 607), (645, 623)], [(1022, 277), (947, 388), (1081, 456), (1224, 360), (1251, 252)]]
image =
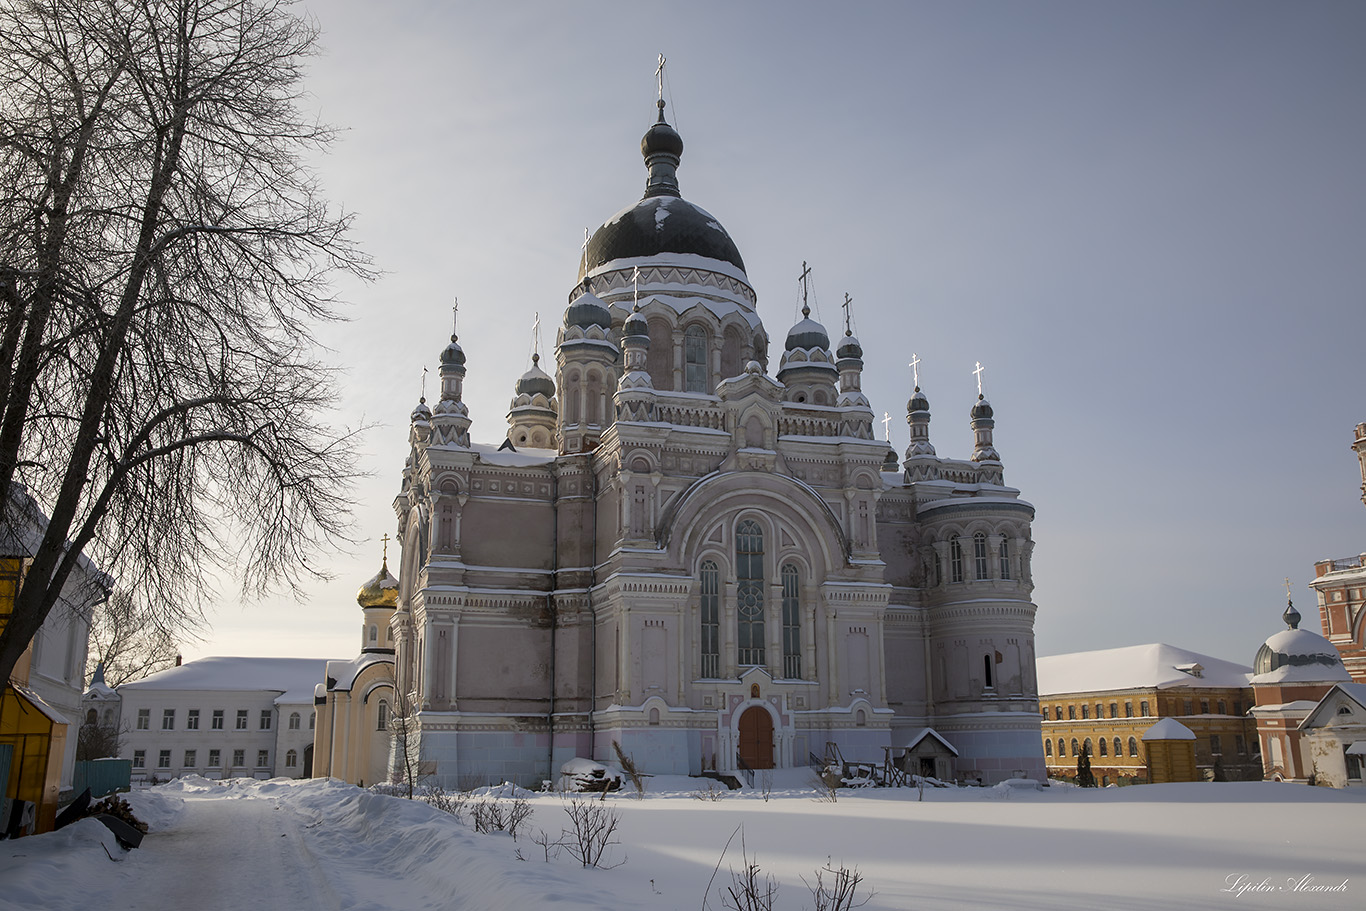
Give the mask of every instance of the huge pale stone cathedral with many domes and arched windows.
[(613, 744), (658, 774), (837, 747), (1042, 780), (1034, 508), (990, 404), (964, 403), (971, 458), (945, 459), (917, 385), (897, 460), (847, 320), (832, 340), (803, 306), (770, 351), (739, 249), (680, 194), (663, 100), (641, 154), (645, 194), (585, 244), (505, 440), (471, 443), (455, 335), (411, 414), (381, 619), (404, 748), (448, 787), (535, 785)]

